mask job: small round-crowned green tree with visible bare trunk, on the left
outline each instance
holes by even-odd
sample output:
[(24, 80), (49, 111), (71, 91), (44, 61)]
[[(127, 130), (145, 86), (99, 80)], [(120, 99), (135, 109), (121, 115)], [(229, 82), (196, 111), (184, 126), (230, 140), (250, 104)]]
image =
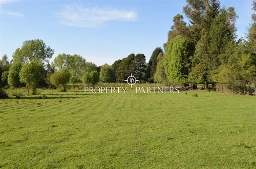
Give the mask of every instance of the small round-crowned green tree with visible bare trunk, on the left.
[(35, 95), (36, 85), (41, 79), (41, 67), (42, 63), (32, 60), (30, 63), (24, 64), (22, 69), (20, 69), (20, 82), (26, 83), (26, 86), (28, 87), (28, 95), (30, 88), (32, 88), (33, 95)]

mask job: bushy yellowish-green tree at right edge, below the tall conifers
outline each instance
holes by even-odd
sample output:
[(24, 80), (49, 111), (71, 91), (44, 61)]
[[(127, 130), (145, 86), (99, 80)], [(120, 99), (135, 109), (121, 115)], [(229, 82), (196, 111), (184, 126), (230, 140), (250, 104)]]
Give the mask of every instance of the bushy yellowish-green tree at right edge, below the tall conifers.
[(247, 95), (250, 93), (250, 85), (256, 80), (254, 57), (250, 53), (249, 43), (245, 40), (239, 40), (233, 50), (228, 62), (218, 68), (215, 80), (221, 89), (218, 87), (217, 90)]

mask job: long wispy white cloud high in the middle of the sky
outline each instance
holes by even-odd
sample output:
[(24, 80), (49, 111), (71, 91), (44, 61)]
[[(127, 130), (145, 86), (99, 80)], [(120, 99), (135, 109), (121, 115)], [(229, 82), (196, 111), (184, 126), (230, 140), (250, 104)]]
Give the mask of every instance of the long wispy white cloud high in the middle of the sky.
[(76, 4), (65, 5), (65, 8), (56, 13), (60, 22), (69, 26), (98, 27), (106, 21), (134, 21), (137, 14), (134, 11), (125, 11), (110, 8), (86, 8)]

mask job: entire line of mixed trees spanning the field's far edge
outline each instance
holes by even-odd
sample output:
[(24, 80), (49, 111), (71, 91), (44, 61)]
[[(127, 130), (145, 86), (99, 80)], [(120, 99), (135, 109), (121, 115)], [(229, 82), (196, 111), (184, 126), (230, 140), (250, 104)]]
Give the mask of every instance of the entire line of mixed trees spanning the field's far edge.
[[(218, 0), (187, 0), (183, 13), (173, 18), (167, 42), (155, 48), (146, 63), (142, 53), (131, 53), (112, 65), (97, 67), (77, 54), (58, 54), (50, 63), (54, 50), (44, 41), (27, 40), (17, 48), (12, 60), (0, 60), (0, 86), (27, 86), (28, 94), (37, 87), (52, 85), (65, 91), (68, 83), (95, 85), (102, 82), (124, 82), (133, 75), (140, 82), (191, 86), (205, 89), (250, 94), (256, 93), (256, 14), (246, 39), (237, 39), (233, 7), (221, 7)], [(256, 2), (252, 9), (256, 11)], [(1, 93), (1, 92), (0, 92)], [(2, 92), (3, 93), (3, 92)]]

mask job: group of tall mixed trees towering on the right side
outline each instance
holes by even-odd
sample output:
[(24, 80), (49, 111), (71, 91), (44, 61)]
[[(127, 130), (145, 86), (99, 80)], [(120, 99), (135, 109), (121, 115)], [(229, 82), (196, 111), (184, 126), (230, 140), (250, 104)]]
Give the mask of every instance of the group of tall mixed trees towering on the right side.
[[(174, 85), (203, 84), (217, 91), (250, 94), (256, 91), (256, 14), (253, 13), (247, 39), (236, 40), (233, 7), (218, 0), (187, 0), (183, 12), (189, 23), (177, 14), (158, 56), (155, 81)], [(256, 2), (252, 9), (256, 11)]]

